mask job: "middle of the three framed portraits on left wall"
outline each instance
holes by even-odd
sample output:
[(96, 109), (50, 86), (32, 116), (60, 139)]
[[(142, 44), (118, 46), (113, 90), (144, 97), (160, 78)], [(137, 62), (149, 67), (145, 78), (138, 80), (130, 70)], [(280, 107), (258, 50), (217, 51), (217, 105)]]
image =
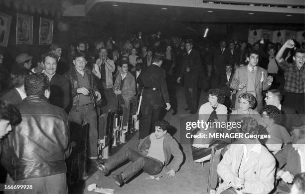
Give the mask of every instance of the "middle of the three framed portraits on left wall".
[(17, 13), (16, 44), (33, 44), (33, 16)]

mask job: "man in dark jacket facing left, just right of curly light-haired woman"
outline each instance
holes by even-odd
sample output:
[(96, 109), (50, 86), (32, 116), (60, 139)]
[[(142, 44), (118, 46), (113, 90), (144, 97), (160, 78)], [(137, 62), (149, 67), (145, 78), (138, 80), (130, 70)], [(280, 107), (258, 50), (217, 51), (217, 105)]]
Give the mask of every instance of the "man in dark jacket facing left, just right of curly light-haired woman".
[(265, 102), (267, 105), (276, 106), (282, 112), (283, 115), (279, 120), (279, 124), (285, 127), (287, 131), (292, 132), (293, 126), (300, 124), (302, 119), (295, 109), (283, 106), (281, 104), (282, 98), (283, 95), (281, 94), (280, 90), (268, 90), (265, 97)]

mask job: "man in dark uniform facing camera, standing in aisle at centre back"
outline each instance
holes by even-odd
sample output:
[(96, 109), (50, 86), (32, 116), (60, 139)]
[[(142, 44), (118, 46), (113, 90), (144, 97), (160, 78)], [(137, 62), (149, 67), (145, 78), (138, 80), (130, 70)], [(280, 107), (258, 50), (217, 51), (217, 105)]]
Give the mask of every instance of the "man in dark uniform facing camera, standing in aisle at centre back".
[(184, 76), (185, 100), (188, 106), (187, 109), (190, 110), (189, 114), (196, 114), (201, 58), (199, 53), (193, 50), (192, 47), (192, 41), (187, 40), (185, 42), (186, 52), (183, 55), (183, 64), (177, 82), (180, 83), (181, 78)]

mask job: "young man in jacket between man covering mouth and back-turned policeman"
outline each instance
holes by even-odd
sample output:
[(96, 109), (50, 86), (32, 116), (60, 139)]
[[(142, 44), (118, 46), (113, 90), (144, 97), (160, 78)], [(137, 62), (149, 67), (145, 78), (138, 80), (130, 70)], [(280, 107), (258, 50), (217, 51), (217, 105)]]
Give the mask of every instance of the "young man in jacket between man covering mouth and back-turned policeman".
[(113, 91), (116, 94), (116, 99), (119, 101), (119, 104), (125, 104), (126, 106), (126, 109), (123, 109), (123, 129), (127, 130), (130, 101), (131, 98), (136, 95), (136, 79), (133, 74), (128, 71), (127, 61), (123, 61), (122, 64), (120, 64), (120, 67), (121, 73), (116, 77)]

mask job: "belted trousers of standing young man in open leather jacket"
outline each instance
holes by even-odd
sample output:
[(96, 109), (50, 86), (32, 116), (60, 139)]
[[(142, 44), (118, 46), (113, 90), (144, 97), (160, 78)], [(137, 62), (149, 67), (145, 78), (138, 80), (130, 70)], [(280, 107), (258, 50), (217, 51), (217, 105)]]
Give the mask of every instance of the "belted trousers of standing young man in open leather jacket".
[[(97, 145), (98, 145), (98, 131), (97, 131), (97, 115), (94, 110), (93, 104), (83, 107), (72, 107), (69, 118), (71, 122), (75, 122), (79, 125), (83, 123), (89, 123), (89, 148), (88, 157), (97, 157)], [(71, 129), (73, 131), (73, 129)], [(73, 133), (73, 132), (71, 132)]]

